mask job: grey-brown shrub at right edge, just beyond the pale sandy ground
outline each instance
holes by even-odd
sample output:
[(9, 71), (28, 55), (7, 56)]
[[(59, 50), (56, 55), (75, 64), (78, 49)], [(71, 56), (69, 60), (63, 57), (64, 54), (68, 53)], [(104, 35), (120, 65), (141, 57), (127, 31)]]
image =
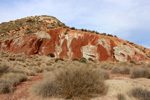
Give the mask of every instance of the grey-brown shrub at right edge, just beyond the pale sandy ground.
[(144, 68), (133, 68), (131, 78), (150, 78), (150, 70)]

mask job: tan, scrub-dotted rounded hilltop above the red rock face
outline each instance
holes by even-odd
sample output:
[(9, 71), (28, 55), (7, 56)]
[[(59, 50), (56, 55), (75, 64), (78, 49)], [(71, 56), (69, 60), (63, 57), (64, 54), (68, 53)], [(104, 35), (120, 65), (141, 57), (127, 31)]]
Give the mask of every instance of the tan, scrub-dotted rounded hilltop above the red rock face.
[(53, 16), (35, 16), (17, 19), (15, 21), (0, 24), (0, 36), (31, 34), (37, 31), (46, 31), (56, 27), (64, 27), (65, 24)]

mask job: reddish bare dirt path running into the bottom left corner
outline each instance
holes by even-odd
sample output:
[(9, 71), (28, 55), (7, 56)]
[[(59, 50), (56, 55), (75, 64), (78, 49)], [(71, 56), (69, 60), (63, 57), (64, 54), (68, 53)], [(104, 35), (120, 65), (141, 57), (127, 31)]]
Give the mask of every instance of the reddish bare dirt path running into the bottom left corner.
[(2, 94), (0, 95), (0, 100), (27, 100), (29, 97), (30, 87), (38, 82), (43, 80), (43, 74), (38, 74), (33, 76), (28, 81), (22, 82), (20, 85), (14, 87), (14, 92), (11, 94)]

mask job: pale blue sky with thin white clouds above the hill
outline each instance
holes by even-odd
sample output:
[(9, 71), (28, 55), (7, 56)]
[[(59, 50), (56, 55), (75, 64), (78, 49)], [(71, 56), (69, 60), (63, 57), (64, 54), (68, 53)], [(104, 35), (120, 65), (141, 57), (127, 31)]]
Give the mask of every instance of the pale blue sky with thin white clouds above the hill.
[(150, 0), (0, 0), (0, 23), (51, 15), (68, 26), (150, 47)]

